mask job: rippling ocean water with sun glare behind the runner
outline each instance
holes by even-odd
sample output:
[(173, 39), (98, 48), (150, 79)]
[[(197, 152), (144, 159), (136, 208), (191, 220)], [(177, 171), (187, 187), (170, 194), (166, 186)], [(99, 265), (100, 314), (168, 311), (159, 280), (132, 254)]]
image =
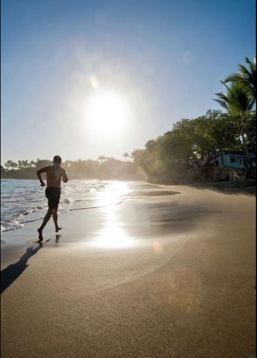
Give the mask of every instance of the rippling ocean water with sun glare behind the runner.
[[(71, 180), (62, 185), (59, 213), (118, 204), (129, 193), (126, 182)], [(45, 187), (38, 180), (1, 179), (1, 232), (40, 220), (47, 211)]]

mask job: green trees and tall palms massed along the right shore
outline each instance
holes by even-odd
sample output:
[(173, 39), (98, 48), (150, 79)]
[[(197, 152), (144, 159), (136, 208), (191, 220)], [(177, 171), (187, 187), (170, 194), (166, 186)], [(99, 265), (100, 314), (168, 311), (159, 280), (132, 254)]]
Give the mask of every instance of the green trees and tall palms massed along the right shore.
[[(256, 153), (256, 61), (221, 81), (225, 93), (216, 94), (225, 113), (209, 110), (198, 118), (182, 118), (170, 131), (135, 149), (134, 161), (157, 182), (179, 182), (190, 167), (210, 166), (225, 150), (243, 151), (245, 167), (252, 171), (249, 153)], [(230, 86), (227, 85), (230, 83)]]

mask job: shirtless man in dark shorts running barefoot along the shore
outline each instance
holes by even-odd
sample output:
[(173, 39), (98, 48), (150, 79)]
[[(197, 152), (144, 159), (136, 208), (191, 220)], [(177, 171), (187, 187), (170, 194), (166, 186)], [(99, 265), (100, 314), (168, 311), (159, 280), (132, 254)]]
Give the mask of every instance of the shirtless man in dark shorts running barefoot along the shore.
[(44, 167), (36, 171), (36, 175), (41, 182), (41, 187), (45, 187), (45, 182), (43, 182), (41, 178), (41, 173), (47, 173), (47, 188), (45, 189), (45, 196), (48, 199), (48, 211), (43, 220), (43, 224), (38, 229), (39, 242), (43, 240), (43, 229), (52, 215), (54, 219), (54, 225), (56, 227), (56, 233), (62, 229), (61, 227), (58, 227), (57, 224), (57, 210), (60, 201), (60, 180), (63, 177), (63, 182), (67, 182), (68, 178), (65, 173), (65, 169), (60, 167), (61, 162), (62, 160), (60, 156), (54, 156), (54, 165), (49, 165), (49, 167)]

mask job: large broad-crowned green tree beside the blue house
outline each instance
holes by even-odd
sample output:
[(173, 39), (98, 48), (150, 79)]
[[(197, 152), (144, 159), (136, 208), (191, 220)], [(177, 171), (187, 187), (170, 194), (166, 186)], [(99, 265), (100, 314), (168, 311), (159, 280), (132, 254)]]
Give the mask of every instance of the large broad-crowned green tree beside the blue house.
[(227, 115), (209, 110), (194, 119), (183, 118), (157, 140), (161, 158), (168, 156), (185, 165), (209, 166), (225, 149), (238, 144), (236, 131)]

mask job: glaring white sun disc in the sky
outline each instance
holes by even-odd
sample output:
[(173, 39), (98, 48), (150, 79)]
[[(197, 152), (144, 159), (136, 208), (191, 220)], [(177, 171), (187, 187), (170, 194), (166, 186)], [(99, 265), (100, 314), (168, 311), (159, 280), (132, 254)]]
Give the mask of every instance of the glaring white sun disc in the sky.
[(87, 125), (95, 134), (118, 134), (126, 126), (129, 108), (122, 95), (115, 92), (94, 94), (87, 101)]

